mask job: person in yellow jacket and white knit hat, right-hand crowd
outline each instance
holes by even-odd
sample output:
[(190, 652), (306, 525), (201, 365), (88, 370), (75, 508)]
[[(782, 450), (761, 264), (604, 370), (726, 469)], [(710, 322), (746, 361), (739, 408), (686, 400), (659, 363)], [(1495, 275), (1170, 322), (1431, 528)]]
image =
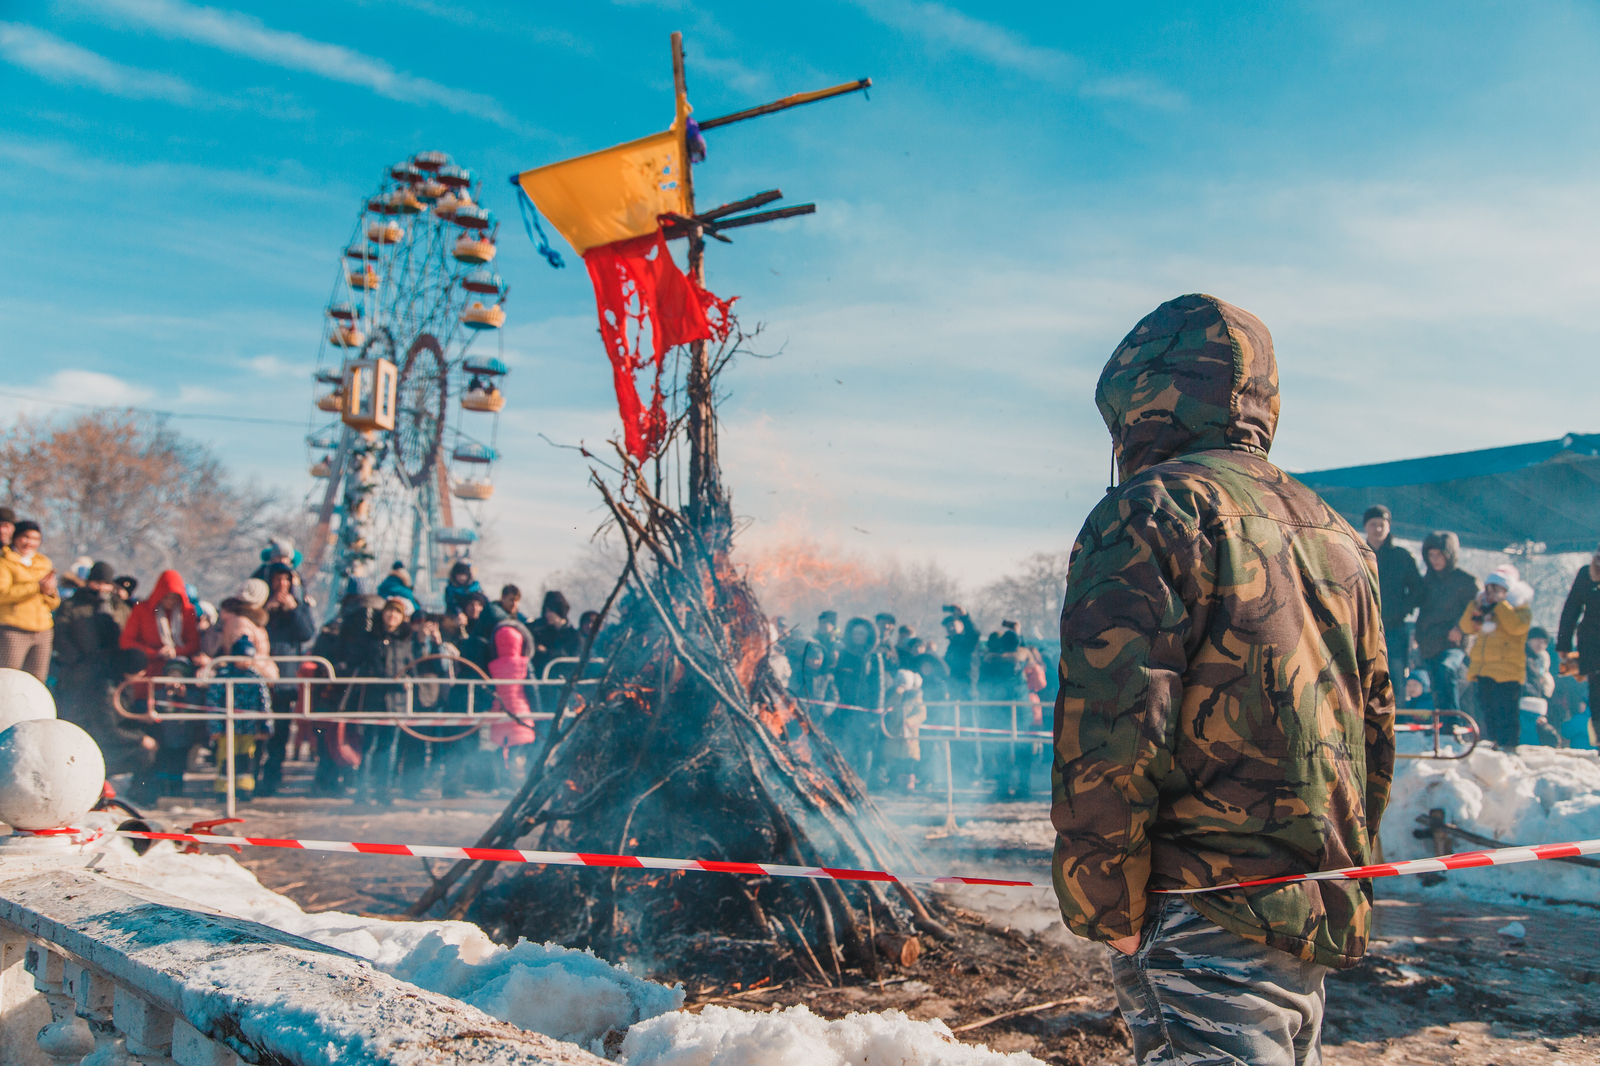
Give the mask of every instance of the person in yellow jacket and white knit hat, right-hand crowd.
[(1528, 629), (1533, 627), (1533, 586), (1504, 563), (1483, 578), (1483, 591), (1461, 615), (1461, 632), (1474, 635), (1467, 680), (1477, 690), (1485, 739), (1501, 751), (1522, 735), (1522, 685), (1528, 672)]

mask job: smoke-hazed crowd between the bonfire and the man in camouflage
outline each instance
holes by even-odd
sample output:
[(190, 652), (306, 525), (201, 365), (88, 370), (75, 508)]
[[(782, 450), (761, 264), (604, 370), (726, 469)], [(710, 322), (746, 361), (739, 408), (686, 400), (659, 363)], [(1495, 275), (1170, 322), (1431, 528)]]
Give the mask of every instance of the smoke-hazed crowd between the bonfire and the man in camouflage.
[[(843, 629), (838, 611), (822, 611), (810, 635), (782, 618), (776, 624), (789, 691), (808, 704), (869, 787), (915, 791), (930, 776), (922, 770), (922, 727), (954, 725), (963, 704), (968, 728), (1010, 733), (1013, 720), (1022, 731), (1043, 727), (1040, 695), (1051, 671), (1014, 621), (986, 639), (971, 615), (947, 605), (942, 655), (888, 611), (851, 618)], [(994, 743), (984, 747), (955, 746), (952, 773), (990, 781), (997, 799), (1027, 797), (1042, 744), (989, 736)]]

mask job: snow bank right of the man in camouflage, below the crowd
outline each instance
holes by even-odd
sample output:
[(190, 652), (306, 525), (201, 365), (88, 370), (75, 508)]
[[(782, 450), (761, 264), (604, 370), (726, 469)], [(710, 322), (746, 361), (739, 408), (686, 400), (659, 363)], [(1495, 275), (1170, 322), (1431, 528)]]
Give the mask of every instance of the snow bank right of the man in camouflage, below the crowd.
[[(1445, 821), (1517, 844), (1600, 839), (1600, 757), (1595, 752), (1523, 746), (1517, 754), (1478, 747), (1466, 759), (1406, 759), (1398, 763), (1379, 839), (1387, 861), (1427, 858), (1434, 840), (1416, 839), (1418, 818), (1443, 808)], [(1454, 839), (1453, 852), (1485, 845)], [(1386, 879), (1382, 893), (1427, 892), (1416, 876)], [(1600, 876), (1571, 863), (1522, 863), (1453, 872), (1440, 890), (1522, 893), (1600, 903)]]

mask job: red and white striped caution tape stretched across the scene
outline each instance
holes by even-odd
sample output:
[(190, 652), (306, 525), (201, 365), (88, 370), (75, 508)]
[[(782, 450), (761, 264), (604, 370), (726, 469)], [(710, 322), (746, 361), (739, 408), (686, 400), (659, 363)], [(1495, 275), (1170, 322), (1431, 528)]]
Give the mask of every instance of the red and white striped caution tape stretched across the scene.
[[(75, 831), (61, 831), (75, 832)], [(523, 852), (520, 848), (446, 848), (429, 844), (358, 844), (350, 840), (277, 840), (272, 837), (224, 837), (197, 832), (144, 832), (118, 829), (117, 836), (141, 840), (174, 840), (179, 844), (218, 844), (237, 848), (298, 848), (302, 852), (344, 852), (350, 855), (414, 855), (418, 858), (483, 860), (490, 863), (547, 863), (552, 866), (606, 866), (622, 869), (699, 871), (706, 874), (765, 874), (770, 877), (813, 877), (822, 880), (899, 880), (909, 885), (995, 885), (1002, 888), (1050, 888), (1048, 880), (1006, 880), (1000, 877), (957, 877), (954, 874), (891, 874), (880, 869), (840, 869), (834, 866), (782, 866), (778, 863), (723, 863), (718, 860), (669, 860), (653, 855), (590, 855), (584, 852)], [(1446, 869), (1472, 869), (1477, 866), (1510, 866), (1539, 860), (1600, 855), (1600, 840), (1573, 844), (1538, 844), (1533, 847), (1496, 848), (1493, 852), (1461, 852), (1438, 858), (1406, 860), (1403, 863), (1379, 863), (1376, 866), (1350, 866), (1288, 877), (1264, 877), (1229, 885), (1205, 888), (1155, 888), (1165, 895), (1194, 895), (1198, 892), (1222, 892), (1224, 888), (1258, 888), (1261, 885), (1288, 885), (1298, 880), (1366, 880), (1371, 877), (1400, 877), (1403, 874), (1429, 874)]]

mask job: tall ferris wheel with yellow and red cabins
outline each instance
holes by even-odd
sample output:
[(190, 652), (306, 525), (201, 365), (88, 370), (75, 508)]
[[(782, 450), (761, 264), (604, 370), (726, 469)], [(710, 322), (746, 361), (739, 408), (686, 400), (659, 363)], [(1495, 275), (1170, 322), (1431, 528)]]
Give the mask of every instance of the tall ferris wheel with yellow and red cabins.
[(330, 387), (315, 408), (338, 418), (306, 439), (310, 474), (326, 480), (310, 495), (309, 562), (330, 603), (392, 560), (437, 603), (478, 539), (507, 373), (498, 224), (478, 187), (443, 152), (418, 152), (389, 168), (344, 250), (315, 371)]

